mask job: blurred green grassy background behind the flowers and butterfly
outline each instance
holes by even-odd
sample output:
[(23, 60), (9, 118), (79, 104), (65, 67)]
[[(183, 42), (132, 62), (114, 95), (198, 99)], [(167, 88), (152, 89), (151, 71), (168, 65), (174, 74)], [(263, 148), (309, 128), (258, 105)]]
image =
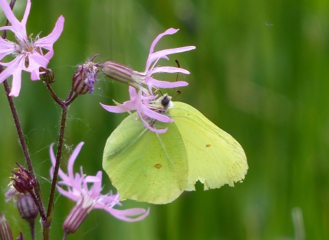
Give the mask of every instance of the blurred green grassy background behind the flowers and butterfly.
[[(17, 1), (19, 19), (25, 4)], [(123, 202), (123, 208), (149, 207), (144, 221), (126, 223), (94, 210), (68, 239), (295, 239), (295, 207), (302, 210), (307, 239), (329, 239), (329, 1), (32, 0), (28, 35), (46, 36), (61, 14), (64, 32), (49, 64), (60, 97), (71, 88), (76, 64), (99, 53), (98, 60), (143, 71), (154, 38), (179, 28), (157, 46), (197, 47), (160, 62), (175, 66), (177, 58), (191, 71), (180, 75), (189, 85), (175, 101), (232, 134), (249, 165), (245, 181), (234, 188), (203, 191), (197, 184), (197, 191), (167, 205)], [(49, 145), (58, 139), (60, 108), (41, 81), (23, 77), (14, 101), (47, 202)], [(174, 81), (175, 75), (158, 78)], [(101, 169), (106, 139), (127, 117), (99, 106), (127, 100), (127, 85), (100, 74), (95, 88), (69, 109), (62, 165), (66, 169), (73, 147), (84, 141), (75, 167), (83, 165), (88, 175)], [(0, 109), (0, 211), (16, 237), (21, 229), (29, 239), (27, 222), (3, 195), (15, 162), (24, 163), (3, 88)], [(113, 189), (105, 173), (103, 184), (103, 193)], [(61, 239), (73, 205), (56, 195), (51, 239)]]

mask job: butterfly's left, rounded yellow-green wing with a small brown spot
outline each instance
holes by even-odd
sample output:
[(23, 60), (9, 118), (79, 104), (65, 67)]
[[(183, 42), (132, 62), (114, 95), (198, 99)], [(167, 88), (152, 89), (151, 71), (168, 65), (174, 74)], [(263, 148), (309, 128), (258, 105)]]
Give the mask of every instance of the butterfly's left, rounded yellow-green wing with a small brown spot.
[(108, 138), (103, 169), (117, 188), (120, 200), (167, 204), (186, 189), (187, 155), (174, 123), (156, 121), (151, 132), (136, 113), (125, 118)]

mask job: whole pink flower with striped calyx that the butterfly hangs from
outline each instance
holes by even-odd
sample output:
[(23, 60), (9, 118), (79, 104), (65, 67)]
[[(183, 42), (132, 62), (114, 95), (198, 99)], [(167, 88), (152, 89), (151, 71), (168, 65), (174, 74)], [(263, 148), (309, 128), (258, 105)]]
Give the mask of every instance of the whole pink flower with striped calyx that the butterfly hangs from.
[(169, 54), (195, 49), (194, 46), (188, 46), (174, 49), (164, 49), (154, 52), (154, 47), (156, 47), (156, 44), (163, 36), (175, 34), (176, 32), (178, 32), (178, 29), (170, 28), (156, 37), (156, 39), (151, 44), (149, 57), (147, 58), (145, 71), (143, 73), (134, 71), (130, 67), (125, 67), (124, 65), (118, 64), (117, 62), (104, 62), (100, 65), (101, 70), (106, 76), (130, 85), (130, 101), (125, 101), (123, 104), (117, 104), (118, 106), (107, 106), (101, 104), (103, 108), (109, 112), (130, 112), (131, 110), (136, 110), (138, 116), (141, 117), (144, 125), (149, 128), (149, 130), (157, 133), (163, 133), (167, 131), (167, 128), (156, 130), (152, 127), (152, 125), (149, 124), (148, 121), (145, 120), (149, 118), (165, 123), (173, 121), (173, 119), (160, 113), (162, 110), (161, 106), (159, 109), (158, 105), (150, 104), (151, 102), (154, 102), (158, 97), (158, 95), (155, 95), (154, 93), (154, 88), (177, 88), (180, 86), (188, 85), (187, 82), (183, 81), (165, 82), (156, 80), (152, 77), (154, 73), (190, 73), (189, 71), (178, 67), (156, 67), (158, 60), (161, 58), (169, 60)]

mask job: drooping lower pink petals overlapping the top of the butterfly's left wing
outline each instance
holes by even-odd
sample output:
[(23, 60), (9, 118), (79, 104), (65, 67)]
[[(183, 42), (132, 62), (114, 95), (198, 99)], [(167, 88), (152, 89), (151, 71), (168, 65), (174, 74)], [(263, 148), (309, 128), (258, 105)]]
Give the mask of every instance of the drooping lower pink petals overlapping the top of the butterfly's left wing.
[[(167, 128), (162, 130), (156, 130), (155, 128), (152, 128), (151, 125), (145, 119), (149, 117), (150, 119), (156, 119), (158, 121), (162, 121), (164, 123), (172, 122), (173, 119), (170, 117), (167, 117), (165, 115), (162, 115), (155, 110), (158, 110), (155, 106), (152, 106), (152, 104), (149, 104), (149, 101), (156, 99), (158, 95), (147, 97), (145, 96), (145, 93), (143, 91), (138, 91), (136, 93), (136, 89), (132, 86), (129, 86), (129, 95), (130, 95), (130, 101), (125, 101), (123, 104), (119, 104), (118, 106), (108, 106), (101, 104), (101, 106), (108, 110), (109, 112), (130, 112), (131, 110), (136, 110), (139, 117), (141, 117), (144, 125), (149, 128), (149, 130), (157, 133), (163, 133), (167, 131)], [(153, 104), (154, 105), (154, 104)]]

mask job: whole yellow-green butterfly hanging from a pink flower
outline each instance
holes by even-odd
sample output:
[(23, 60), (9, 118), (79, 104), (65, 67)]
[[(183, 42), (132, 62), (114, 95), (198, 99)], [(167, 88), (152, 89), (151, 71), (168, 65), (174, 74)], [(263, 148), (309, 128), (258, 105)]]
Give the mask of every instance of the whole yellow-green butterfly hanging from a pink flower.
[(167, 132), (150, 131), (134, 113), (106, 142), (103, 169), (120, 200), (167, 204), (183, 191), (194, 191), (198, 180), (208, 190), (234, 186), (245, 178), (245, 152), (230, 134), (167, 94), (153, 104), (162, 106), (162, 114), (174, 120), (151, 121), (154, 128), (167, 128)]

